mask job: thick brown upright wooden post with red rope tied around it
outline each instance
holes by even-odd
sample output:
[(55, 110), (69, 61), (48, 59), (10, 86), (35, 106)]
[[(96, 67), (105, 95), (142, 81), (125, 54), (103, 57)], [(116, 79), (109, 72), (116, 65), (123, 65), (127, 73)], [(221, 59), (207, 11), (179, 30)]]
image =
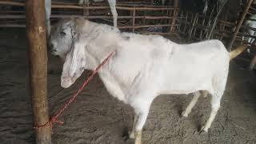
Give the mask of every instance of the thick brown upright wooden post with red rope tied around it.
[[(30, 56), (30, 94), (34, 125), (48, 122), (45, 1), (26, 0), (26, 34)], [(51, 126), (35, 128), (36, 143), (51, 143)]]

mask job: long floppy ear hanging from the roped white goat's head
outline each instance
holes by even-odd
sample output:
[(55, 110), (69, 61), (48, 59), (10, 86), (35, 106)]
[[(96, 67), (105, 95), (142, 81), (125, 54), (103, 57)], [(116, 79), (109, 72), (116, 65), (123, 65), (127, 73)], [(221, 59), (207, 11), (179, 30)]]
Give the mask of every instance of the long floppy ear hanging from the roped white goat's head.
[(63, 65), (62, 87), (71, 86), (81, 76), (86, 65), (85, 56), (85, 49), (82, 43), (75, 42), (73, 49), (66, 55), (66, 61)]

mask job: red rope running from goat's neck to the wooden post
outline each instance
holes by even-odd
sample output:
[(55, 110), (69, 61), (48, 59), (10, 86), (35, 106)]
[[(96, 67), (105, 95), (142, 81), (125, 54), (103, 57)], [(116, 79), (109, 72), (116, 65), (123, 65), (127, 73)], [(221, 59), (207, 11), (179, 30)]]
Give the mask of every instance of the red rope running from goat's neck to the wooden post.
[(62, 106), (62, 109), (58, 111), (58, 113), (55, 113), (54, 116), (52, 118), (50, 118), (50, 120), (48, 122), (46, 122), (45, 124), (41, 125), (41, 126), (34, 126), (34, 128), (40, 128), (43, 126), (52, 126), (53, 123), (58, 123), (58, 124), (63, 124), (64, 122), (58, 121), (58, 116), (60, 114), (62, 114), (62, 112), (64, 110), (66, 110), (67, 106), (70, 105), (71, 102), (74, 102), (74, 99), (78, 97), (78, 94), (81, 93), (81, 91), (88, 85), (88, 83), (90, 82), (90, 80), (94, 77), (95, 74), (98, 73), (98, 70), (100, 70), (102, 68), (102, 66), (104, 64), (106, 64), (106, 62), (108, 62), (110, 60), (110, 58), (115, 54), (115, 52), (113, 51), (112, 53), (109, 54), (109, 56), (107, 58), (104, 59), (104, 61), (99, 64), (97, 66), (97, 68), (92, 72), (92, 74), (90, 74), (90, 76), (86, 79), (86, 81), (82, 84), (82, 86), (79, 88), (78, 92), (76, 92), (72, 98), (70, 98), (69, 101), (67, 101), (64, 106)]

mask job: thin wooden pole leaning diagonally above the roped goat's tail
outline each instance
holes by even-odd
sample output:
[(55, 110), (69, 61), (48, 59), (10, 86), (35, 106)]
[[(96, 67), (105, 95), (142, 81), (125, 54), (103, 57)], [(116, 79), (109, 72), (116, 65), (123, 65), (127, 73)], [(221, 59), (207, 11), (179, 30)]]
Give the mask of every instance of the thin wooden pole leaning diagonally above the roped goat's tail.
[(238, 26), (236, 26), (236, 28), (234, 30), (233, 38), (231, 39), (230, 45), (228, 46), (229, 50), (231, 50), (231, 47), (233, 46), (234, 40), (238, 35), (240, 27), (242, 26), (242, 22), (245, 20), (247, 11), (250, 9), (250, 5), (252, 4), (253, 1), (254, 0), (249, 0), (248, 4), (246, 6), (246, 9), (242, 12), (242, 17), (241, 17), (240, 21), (238, 22)]

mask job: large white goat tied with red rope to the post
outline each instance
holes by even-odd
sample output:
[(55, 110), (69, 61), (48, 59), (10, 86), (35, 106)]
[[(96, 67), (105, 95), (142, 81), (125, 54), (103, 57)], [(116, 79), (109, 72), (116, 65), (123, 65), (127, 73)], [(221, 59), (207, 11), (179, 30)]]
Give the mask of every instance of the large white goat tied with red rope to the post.
[(54, 54), (65, 58), (61, 86), (71, 86), (84, 69), (94, 70), (112, 51), (115, 55), (99, 70), (99, 77), (115, 98), (134, 108), (130, 138), (141, 144), (142, 127), (150, 104), (159, 94), (189, 94), (194, 98), (182, 113), (190, 114), (200, 90), (211, 94), (211, 111), (202, 131), (207, 132), (220, 107), (229, 71), (229, 54), (218, 40), (179, 45), (159, 35), (121, 33), (118, 29), (78, 19), (58, 22), (50, 37)]

